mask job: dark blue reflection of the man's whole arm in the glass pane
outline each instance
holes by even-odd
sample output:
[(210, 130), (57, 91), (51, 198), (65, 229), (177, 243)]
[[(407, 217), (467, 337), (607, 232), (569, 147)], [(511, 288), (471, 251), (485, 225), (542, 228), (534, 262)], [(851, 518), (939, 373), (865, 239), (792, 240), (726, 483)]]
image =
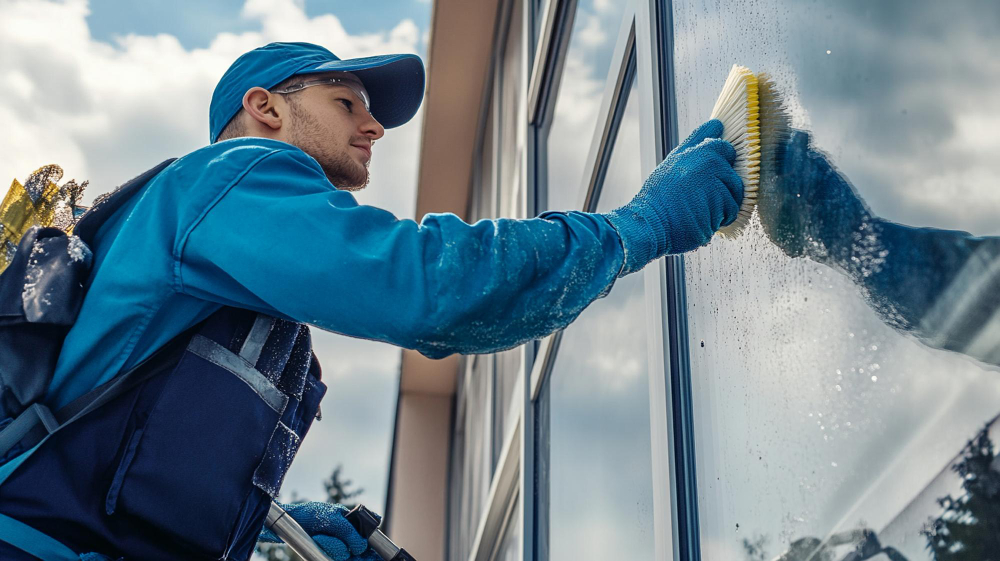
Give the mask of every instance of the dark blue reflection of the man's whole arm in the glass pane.
[(1000, 238), (879, 218), (808, 133), (795, 131), (761, 221), (792, 256), (835, 267), (924, 343), (1000, 364)]

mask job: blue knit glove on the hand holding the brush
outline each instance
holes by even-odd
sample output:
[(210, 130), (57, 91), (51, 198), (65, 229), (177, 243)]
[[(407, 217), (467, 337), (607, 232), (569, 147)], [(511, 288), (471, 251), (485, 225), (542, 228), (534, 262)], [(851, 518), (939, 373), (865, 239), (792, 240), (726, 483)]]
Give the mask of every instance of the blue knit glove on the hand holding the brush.
[(733, 170), (736, 149), (719, 138), (712, 119), (673, 149), (628, 204), (605, 216), (625, 248), (621, 275), (667, 253), (705, 245), (732, 223), (743, 202), (743, 181)]

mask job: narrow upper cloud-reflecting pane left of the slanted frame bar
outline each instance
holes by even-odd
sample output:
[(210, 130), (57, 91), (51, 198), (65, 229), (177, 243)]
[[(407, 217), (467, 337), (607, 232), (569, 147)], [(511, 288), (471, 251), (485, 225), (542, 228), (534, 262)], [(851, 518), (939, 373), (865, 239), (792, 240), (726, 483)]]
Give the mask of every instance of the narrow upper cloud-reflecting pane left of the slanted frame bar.
[(548, 209), (576, 209), (582, 202), (583, 178), (590, 173), (584, 164), (600, 120), (597, 113), (622, 19), (631, 17), (629, 6), (624, 1), (581, 0), (576, 7), (551, 128), (542, 141), (547, 170), (539, 188), (547, 185)]

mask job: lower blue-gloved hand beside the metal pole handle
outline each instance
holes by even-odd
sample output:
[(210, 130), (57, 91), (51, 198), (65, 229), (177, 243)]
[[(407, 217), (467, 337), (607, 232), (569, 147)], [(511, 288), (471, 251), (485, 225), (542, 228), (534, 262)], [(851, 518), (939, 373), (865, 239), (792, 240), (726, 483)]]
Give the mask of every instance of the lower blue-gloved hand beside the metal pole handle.
[[(333, 561), (379, 561), (378, 554), (368, 549), (368, 540), (361, 537), (344, 517), (350, 510), (344, 505), (311, 502), (279, 503), (278, 506), (285, 509)], [(258, 540), (281, 543), (281, 539), (268, 528), (261, 531)]]

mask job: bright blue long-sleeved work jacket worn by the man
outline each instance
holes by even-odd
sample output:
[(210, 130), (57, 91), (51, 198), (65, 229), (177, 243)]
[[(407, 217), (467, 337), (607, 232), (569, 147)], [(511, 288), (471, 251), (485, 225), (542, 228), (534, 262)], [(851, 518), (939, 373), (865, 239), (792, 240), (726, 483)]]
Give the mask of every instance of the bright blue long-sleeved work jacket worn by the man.
[(611, 289), (600, 214), (419, 223), (359, 205), (302, 150), (238, 138), (167, 167), (99, 230), (48, 404), (62, 407), (222, 306), (440, 358), (565, 327)]

